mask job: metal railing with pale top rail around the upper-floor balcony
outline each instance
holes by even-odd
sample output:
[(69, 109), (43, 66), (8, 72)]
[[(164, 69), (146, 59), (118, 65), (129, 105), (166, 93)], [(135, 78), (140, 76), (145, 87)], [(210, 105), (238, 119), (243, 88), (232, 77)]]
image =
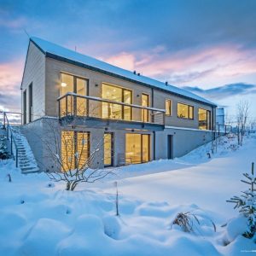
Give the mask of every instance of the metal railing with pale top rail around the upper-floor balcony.
[(68, 92), (59, 97), (59, 117), (78, 116), (165, 125), (166, 110)]

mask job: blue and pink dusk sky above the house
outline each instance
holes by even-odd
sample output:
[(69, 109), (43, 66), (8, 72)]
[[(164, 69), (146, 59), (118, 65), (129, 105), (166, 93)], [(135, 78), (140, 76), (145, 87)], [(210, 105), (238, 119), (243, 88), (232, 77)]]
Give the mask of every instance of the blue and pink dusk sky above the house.
[(0, 108), (20, 111), (29, 36), (256, 117), (254, 0), (0, 0)]

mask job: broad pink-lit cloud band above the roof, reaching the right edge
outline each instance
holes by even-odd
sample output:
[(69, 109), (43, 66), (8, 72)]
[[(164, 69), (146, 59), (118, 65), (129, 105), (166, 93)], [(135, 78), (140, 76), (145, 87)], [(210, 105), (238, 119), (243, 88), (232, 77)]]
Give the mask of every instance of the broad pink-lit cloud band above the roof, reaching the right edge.
[[(226, 79), (256, 73), (256, 52), (236, 45), (169, 53), (163, 46), (149, 53), (122, 52), (104, 61), (172, 84), (222, 84)], [(208, 85), (209, 84), (209, 85)]]

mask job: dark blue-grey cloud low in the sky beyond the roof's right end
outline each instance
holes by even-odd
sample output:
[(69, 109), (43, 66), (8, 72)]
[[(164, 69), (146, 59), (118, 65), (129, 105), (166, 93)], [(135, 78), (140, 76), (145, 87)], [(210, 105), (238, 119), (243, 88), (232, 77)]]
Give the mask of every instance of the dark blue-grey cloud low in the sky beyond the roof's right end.
[(212, 100), (222, 100), (232, 96), (256, 95), (256, 85), (244, 83), (225, 84), (208, 90), (204, 90), (196, 86), (183, 86), (183, 89), (194, 92), (200, 96), (205, 96)]

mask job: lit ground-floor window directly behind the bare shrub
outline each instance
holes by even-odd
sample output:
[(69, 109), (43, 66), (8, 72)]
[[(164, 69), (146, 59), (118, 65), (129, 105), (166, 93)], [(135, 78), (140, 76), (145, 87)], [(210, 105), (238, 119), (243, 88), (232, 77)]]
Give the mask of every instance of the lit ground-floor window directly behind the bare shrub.
[(69, 171), (88, 165), (90, 133), (85, 131), (61, 131), (61, 170)]

